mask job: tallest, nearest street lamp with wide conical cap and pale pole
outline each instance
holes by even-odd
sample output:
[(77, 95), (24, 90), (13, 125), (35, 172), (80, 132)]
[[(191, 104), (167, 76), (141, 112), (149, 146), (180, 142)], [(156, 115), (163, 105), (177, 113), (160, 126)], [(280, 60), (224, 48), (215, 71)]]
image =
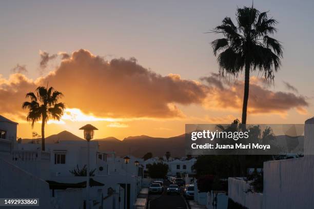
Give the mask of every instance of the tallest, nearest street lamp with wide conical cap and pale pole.
[(93, 139), (94, 130), (98, 130), (96, 127), (92, 126), (91, 124), (87, 124), (84, 127), (80, 128), (79, 130), (84, 130), (84, 139), (87, 141), (87, 170), (86, 170), (86, 208), (90, 208), (89, 204), (89, 141)]

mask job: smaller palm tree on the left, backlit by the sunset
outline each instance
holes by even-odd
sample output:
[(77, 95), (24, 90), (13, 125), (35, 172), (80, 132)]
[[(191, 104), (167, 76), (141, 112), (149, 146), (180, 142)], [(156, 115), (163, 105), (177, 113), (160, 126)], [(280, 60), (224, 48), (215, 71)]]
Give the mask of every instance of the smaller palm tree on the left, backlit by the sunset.
[(58, 102), (63, 96), (61, 92), (55, 91), (52, 87), (38, 87), (34, 92), (26, 94), (26, 98), (31, 101), (25, 101), (23, 109), (28, 109), (27, 121), (34, 123), (42, 119), (42, 150), (45, 151), (45, 123), (49, 118), (60, 120), (63, 115), (65, 105)]

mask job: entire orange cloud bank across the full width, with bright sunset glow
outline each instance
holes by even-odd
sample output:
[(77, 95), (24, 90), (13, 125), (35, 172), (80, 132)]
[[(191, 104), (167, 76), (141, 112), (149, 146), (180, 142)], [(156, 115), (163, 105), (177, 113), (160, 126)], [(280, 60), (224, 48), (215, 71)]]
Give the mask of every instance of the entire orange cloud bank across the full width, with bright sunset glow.
[[(135, 58), (107, 61), (83, 49), (65, 54), (60, 53), (65, 58), (59, 67), (35, 81), (19, 73), (11, 74), (9, 79), (0, 75), (0, 98), (5, 98), (0, 100), (0, 113), (24, 120), (26, 112), (21, 106), (25, 94), (37, 86), (46, 86), (47, 82), (64, 94), (62, 101), (67, 110), (61, 122), (110, 121), (112, 127), (121, 127), (125, 124), (114, 122), (186, 117), (178, 105), (199, 104), (208, 109), (237, 112), (242, 109), (243, 81), (228, 82), (212, 74), (201, 78), (207, 82), (204, 85), (182, 79), (178, 74), (154, 73), (139, 65)], [(286, 115), (288, 110), (296, 109), (299, 114), (307, 114), (307, 106), (305, 97), (271, 91), (262, 79), (251, 78), (249, 113)], [(230, 118), (217, 117), (212, 121)]]

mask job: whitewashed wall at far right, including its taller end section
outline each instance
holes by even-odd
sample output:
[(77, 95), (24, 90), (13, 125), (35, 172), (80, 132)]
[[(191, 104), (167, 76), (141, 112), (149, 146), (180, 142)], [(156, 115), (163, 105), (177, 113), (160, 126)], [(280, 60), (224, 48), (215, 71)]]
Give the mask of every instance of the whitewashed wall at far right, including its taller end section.
[[(314, 118), (305, 121), (305, 154), (314, 149)], [(314, 156), (264, 162), (264, 209), (314, 208)]]

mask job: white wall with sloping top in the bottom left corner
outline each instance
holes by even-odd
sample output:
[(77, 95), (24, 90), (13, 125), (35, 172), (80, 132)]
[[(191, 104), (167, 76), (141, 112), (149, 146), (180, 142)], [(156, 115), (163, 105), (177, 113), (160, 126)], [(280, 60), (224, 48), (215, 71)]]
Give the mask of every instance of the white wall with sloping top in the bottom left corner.
[(49, 184), (17, 166), (0, 159), (0, 197), (40, 198), (40, 206), (51, 208)]

